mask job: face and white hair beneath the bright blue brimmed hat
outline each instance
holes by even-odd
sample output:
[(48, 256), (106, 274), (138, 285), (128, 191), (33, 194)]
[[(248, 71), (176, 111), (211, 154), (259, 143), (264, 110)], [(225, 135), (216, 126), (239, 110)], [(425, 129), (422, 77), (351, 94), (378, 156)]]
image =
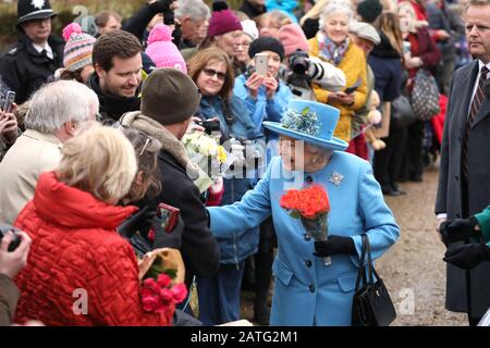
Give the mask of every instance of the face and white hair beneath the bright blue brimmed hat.
[(329, 156), (328, 150), (309, 145), (302, 140), (296, 140), (287, 136), (279, 137), (279, 154), (283, 165), (289, 171), (314, 172), (321, 163), (326, 163)]

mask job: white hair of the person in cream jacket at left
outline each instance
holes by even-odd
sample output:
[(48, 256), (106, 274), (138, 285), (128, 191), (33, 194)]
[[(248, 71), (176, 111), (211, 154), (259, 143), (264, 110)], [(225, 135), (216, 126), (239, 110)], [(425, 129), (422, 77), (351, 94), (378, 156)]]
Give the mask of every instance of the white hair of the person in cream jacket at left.
[(27, 129), (52, 134), (66, 122), (87, 122), (98, 109), (99, 99), (90, 88), (75, 80), (57, 80), (33, 95), (24, 124)]

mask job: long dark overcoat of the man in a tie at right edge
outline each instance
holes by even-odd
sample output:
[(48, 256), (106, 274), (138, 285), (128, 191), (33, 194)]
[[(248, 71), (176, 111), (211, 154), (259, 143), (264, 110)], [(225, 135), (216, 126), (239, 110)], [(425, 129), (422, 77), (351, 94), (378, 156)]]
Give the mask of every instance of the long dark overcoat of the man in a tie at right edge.
[[(462, 142), (465, 137), (469, 104), (478, 75), (478, 61), (454, 73), (451, 83), (444, 134), (441, 147), (436, 213), (448, 219), (467, 217), (462, 201)], [(490, 202), (490, 99), (485, 98), (469, 130), (468, 141), (468, 215), (481, 212)], [(471, 315), (483, 315), (490, 307), (490, 263), (471, 271)], [(467, 312), (465, 272), (448, 264), (446, 308)]]

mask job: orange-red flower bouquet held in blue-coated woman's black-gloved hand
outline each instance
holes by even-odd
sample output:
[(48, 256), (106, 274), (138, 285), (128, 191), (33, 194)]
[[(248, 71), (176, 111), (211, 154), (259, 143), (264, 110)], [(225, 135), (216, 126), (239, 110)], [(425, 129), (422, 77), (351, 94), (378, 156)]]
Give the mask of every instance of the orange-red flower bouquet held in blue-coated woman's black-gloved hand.
[[(287, 190), (281, 197), (280, 206), (290, 211), (292, 217), (301, 219), (306, 233), (316, 241), (327, 240), (330, 202), (322, 186)], [(323, 262), (326, 265), (331, 264), (330, 258), (323, 258)]]

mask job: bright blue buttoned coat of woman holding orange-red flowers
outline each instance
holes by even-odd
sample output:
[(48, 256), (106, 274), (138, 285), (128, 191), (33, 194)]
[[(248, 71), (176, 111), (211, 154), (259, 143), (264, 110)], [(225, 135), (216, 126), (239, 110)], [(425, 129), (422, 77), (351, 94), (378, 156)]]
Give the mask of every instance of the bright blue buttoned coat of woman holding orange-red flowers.
[[(329, 182), (333, 172), (344, 175), (339, 186)], [(345, 152), (333, 152), (330, 163), (314, 174), (290, 172), (274, 158), (265, 177), (241, 202), (209, 208), (213, 235), (238, 233), (273, 216), (279, 250), (271, 325), (351, 325), (352, 298), (358, 257), (333, 256), (332, 264), (313, 256), (314, 241), (301, 222), (279, 206), (285, 189), (301, 188), (303, 175), (326, 187), (331, 212), (329, 234), (350, 236), (360, 254), (360, 234), (366, 232), (375, 259), (400, 237), (400, 227), (387, 207), (368, 162)]]

